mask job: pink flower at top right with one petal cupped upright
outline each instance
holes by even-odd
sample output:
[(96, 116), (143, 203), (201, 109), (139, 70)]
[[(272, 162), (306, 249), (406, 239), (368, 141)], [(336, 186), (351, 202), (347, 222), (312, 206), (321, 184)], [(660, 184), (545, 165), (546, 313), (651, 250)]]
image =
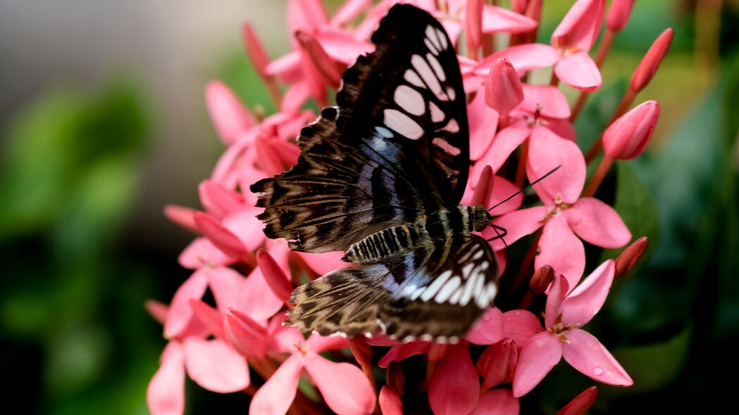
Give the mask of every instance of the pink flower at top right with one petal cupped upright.
[(506, 58), (519, 71), (554, 65), (562, 82), (582, 91), (599, 89), (602, 78), (598, 66), (588, 55), (600, 31), (605, 0), (578, 0), (571, 7), (551, 38), (551, 46), (522, 44), (496, 52), (477, 65), (476, 75), (486, 75), (500, 58)]

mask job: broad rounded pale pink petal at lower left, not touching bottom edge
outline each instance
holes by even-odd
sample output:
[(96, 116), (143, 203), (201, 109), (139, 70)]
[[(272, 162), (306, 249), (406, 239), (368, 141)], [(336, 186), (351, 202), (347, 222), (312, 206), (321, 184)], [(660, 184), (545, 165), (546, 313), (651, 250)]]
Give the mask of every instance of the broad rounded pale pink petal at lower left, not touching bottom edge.
[(246, 360), (222, 340), (188, 337), (183, 350), (188, 375), (208, 391), (228, 394), (249, 385)]

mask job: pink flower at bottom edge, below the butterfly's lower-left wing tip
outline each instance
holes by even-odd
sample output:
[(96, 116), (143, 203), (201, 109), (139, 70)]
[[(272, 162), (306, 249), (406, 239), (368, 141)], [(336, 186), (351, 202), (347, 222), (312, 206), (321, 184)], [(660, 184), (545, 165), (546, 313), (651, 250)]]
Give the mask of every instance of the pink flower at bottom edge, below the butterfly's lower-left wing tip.
[(336, 363), (319, 353), (344, 349), (349, 343), (343, 337), (311, 335), (308, 340), (293, 327), (279, 326), (282, 318), (273, 319), (274, 349), (290, 357), (254, 394), (249, 414), (285, 414), (295, 398), (303, 369), (321, 391), (329, 408), (337, 414), (370, 414), (375, 408), (372, 385), (362, 371), (350, 363)]

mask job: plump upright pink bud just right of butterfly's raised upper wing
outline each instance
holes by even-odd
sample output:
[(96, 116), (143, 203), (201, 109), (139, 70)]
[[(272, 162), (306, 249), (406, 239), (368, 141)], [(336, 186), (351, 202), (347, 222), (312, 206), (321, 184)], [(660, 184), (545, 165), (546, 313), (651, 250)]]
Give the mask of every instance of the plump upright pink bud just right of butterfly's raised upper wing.
[(495, 61), (485, 83), (485, 102), (505, 117), (523, 101), (523, 87), (508, 59)]

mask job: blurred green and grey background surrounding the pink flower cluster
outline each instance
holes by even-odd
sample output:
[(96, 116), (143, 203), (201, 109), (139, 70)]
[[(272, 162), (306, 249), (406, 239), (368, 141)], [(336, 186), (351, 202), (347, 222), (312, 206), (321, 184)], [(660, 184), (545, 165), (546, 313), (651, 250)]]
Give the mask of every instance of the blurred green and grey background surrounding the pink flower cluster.
[[(545, 0), (539, 41), (570, 4)], [(191, 239), (161, 207), (199, 206), (197, 183), (222, 151), (202, 89), (221, 78), (270, 112), (240, 25), (251, 21), (276, 58), (285, 16), (285, 1), (0, 1), (6, 402), (28, 414), (147, 413), (165, 340), (143, 302), (169, 301)], [(599, 193), (652, 244), (588, 326), (635, 380), (598, 385), (597, 414), (683, 412), (739, 387), (715, 377), (739, 367), (739, 1), (637, 0), (576, 127), (587, 147), (666, 27), (670, 54), (636, 100), (661, 103), (653, 143)], [(588, 265), (601, 255), (613, 253), (588, 250)], [(590, 385), (559, 365), (522, 413), (554, 413)], [(246, 411), (234, 408), (245, 399), (188, 381), (190, 413)]]

